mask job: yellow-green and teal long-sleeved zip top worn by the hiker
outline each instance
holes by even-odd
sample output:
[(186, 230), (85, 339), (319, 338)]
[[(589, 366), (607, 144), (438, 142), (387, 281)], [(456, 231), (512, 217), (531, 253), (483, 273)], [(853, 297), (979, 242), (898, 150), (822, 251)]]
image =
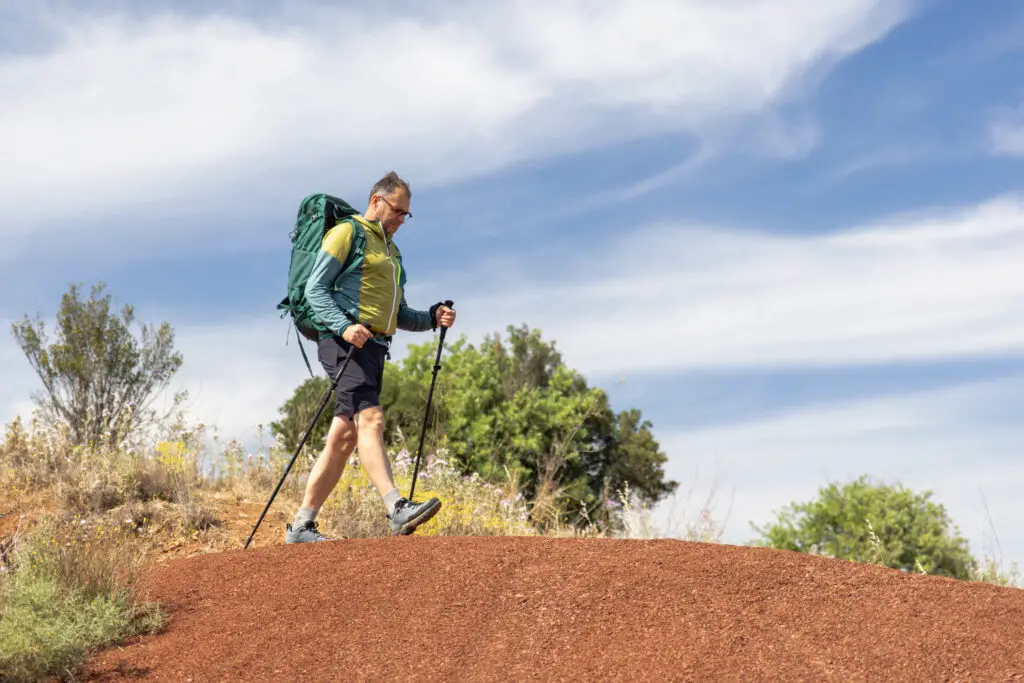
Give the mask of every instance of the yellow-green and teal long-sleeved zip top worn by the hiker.
[[(357, 229), (364, 231), (366, 246), (343, 272)], [(431, 311), (416, 310), (406, 303), (404, 288), (406, 269), (397, 245), (380, 223), (354, 215), (324, 236), (306, 283), (306, 299), (316, 318), (339, 336), (353, 323), (383, 338), (390, 338), (397, 330), (434, 329)]]

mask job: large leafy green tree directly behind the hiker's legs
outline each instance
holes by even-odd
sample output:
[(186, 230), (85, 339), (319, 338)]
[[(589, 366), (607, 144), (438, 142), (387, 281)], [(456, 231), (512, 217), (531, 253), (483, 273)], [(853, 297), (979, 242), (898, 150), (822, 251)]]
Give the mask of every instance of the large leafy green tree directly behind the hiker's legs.
[[(435, 342), (412, 345), (400, 365), (385, 370), (381, 403), (392, 446), (418, 447), (436, 351)], [(655, 503), (678, 485), (665, 478), (667, 458), (650, 423), (636, 410), (615, 414), (606, 394), (588, 387), (539, 331), (510, 326), (505, 339), (488, 336), (479, 348), (459, 339), (445, 351), (425, 454), (443, 442), (464, 473), (495, 482), (511, 473), (528, 499), (586, 509), (591, 519), (607, 520), (603, 504), (627, 485), (634, 504)], [(323, 390), (303, 386), (271, 426), (292, 447), (323, 398)]]

